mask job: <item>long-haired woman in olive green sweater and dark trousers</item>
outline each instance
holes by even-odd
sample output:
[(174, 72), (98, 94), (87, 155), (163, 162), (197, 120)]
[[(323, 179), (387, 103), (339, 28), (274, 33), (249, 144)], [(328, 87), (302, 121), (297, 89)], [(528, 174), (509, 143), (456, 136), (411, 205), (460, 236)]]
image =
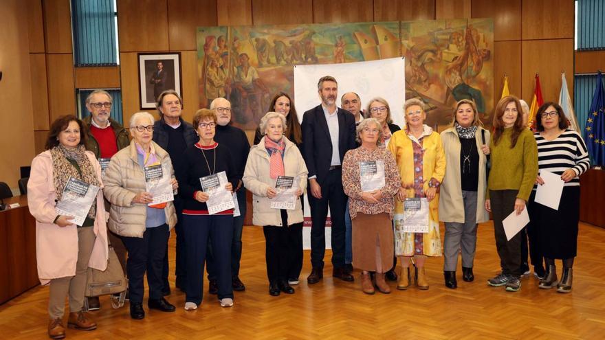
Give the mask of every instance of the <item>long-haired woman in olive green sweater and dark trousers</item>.
[(492, 170), (487, 180), (485, 209), (492, 212), (496, 249), (502, 271), (487, 280), (490, 286), (506, 286), (518, 291), (520, 282), (520, 234), (507, 240), (502, 221), (521, 214), (538, 175), (538, 147), (533, 134), (523, 124), (521, 104), (513, 95), (500, 99), (494, 111)]

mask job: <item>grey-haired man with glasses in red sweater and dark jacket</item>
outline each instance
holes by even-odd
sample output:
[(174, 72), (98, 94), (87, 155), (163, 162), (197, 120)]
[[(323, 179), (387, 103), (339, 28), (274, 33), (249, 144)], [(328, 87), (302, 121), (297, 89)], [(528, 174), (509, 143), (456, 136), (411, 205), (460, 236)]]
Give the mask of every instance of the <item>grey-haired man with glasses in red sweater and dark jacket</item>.
[[(112, 120), (109, 115), (112, 104), (111, 95), (107, 91), (92, 91), (86, 98), (86, 108), (90, 112), (90, 115), (82, 120), (87, 135), (86, 150), (94, 152), (103, 172), (109, 166), (109, 159), (118, 150), (126, 148), (130, 144), (128, 131), (120, 123)], [(109, 203), (106, 201), (105, 207), (107, 209), (109, 209), (108, 205)], [(126, 248), (122, 244), (122, 240), (119, 236), (109, 231), (109, 229), (107, 230), (107, 236), (109, 236), (113, 250), (118, 256), (120, 264), (122, 264), (124, 273), (126, 273)], [(98, 297), (88, 298), (89, 310), (98, 310), (100, 308)]]

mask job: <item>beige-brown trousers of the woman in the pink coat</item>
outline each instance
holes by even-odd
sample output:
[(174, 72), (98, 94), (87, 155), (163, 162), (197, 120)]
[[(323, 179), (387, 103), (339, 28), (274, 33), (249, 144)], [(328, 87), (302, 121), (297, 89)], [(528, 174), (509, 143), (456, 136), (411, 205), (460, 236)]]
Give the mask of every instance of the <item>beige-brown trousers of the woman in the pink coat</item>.
[(78, 262), (76, 275), (59, 277), (50, 281), (48, 314), (51, 319), (62, 318), (65, 310), (65, 296), (69, 294), (69, 312), (79, 312), (84, 306), (86, 273), (92, 247), (95, 242), (94, 227), (78, 228)]

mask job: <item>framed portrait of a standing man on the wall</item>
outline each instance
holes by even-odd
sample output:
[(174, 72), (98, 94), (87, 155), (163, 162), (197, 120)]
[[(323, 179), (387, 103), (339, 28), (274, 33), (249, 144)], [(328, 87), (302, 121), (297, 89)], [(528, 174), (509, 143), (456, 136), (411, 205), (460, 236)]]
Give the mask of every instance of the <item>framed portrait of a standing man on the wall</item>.
[[(155, 100), (163, 91), (181, 94), (181, 54), (139, 53), (139, 97), (141, 109), (155, 109)], [(182, 94), (181, 94), (182, 95)]]

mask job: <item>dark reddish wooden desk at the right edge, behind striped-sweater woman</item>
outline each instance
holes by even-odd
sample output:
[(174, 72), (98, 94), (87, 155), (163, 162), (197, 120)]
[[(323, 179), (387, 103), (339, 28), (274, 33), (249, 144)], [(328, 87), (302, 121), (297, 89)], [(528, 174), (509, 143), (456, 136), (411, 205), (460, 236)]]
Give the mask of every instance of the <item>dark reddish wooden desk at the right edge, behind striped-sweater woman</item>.
[(580, 220), (605, 228), (605, 170), (590, 169), (580, 176)]

